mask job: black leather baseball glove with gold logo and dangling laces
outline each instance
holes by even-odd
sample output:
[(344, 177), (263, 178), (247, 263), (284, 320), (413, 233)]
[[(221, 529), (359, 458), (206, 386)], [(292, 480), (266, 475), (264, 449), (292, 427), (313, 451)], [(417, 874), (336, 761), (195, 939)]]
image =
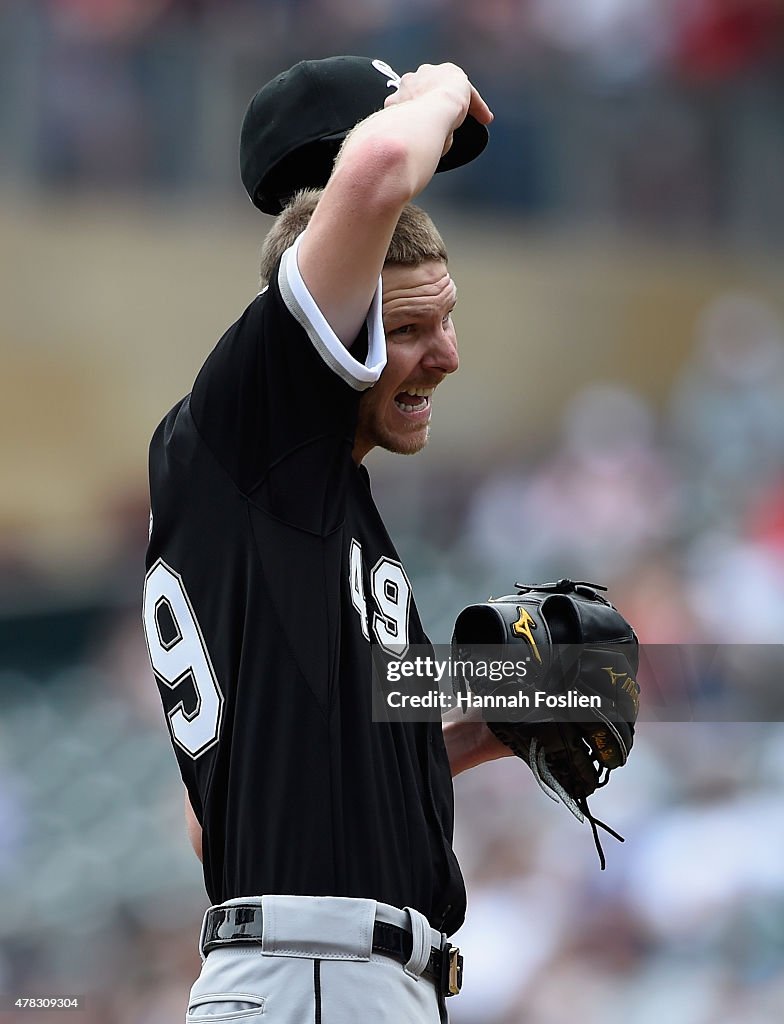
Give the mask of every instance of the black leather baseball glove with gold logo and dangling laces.
[[(587, 798), (626, 763), (640, 705), (634, 629), (596, 584), (559, 580), (472, 604), (458, 615), (452, 660), (491, 731), (529, 766), (542, 791), (591, 822)], [(498, 681), (488, 658), (517, 668)], [(485, 672), (479, 674), (479, 667)], [(494, 679), (490, 676), (494, 675)]]

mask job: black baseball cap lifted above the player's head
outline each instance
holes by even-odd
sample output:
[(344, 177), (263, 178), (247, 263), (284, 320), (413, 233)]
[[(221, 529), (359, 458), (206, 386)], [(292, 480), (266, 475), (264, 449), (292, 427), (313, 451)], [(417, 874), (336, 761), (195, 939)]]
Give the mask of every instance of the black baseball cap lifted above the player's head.
[[(339, 56), (301, 60), (262, 86), (239, 136), (239, 171), (254, 206), (279, 213), (298, 188), (325, 185), (343, 139), (382, 109), (397, 81), (383, 60)], [(487, 137), (469, 115), (436, 171), (468, 164)]]

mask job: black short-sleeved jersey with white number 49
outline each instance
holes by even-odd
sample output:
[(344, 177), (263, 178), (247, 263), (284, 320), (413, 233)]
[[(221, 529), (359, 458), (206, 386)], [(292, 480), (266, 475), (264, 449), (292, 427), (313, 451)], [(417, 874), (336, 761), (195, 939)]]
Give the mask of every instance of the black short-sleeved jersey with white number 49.
[(385, 364), (380, 289), (355, 346), (335, 337), (296, 249), (150, 444), (144, 625), (213, 903), (354, 896), (451, 934), (440, 723), (374, 723), (372, 644), (428, 643), (352, 460)]

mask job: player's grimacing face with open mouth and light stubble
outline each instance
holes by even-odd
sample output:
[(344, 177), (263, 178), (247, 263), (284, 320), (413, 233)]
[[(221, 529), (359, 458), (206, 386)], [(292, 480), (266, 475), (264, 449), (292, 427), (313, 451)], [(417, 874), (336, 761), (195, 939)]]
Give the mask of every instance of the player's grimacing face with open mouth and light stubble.
[(420, 452), (428, 440), (433, 391), (459, 366), (451, 318), (458, 292), (446, 264), (389, 264), (381, 276), (387, 365), (359, 400), (356, 463), (376, 446)]

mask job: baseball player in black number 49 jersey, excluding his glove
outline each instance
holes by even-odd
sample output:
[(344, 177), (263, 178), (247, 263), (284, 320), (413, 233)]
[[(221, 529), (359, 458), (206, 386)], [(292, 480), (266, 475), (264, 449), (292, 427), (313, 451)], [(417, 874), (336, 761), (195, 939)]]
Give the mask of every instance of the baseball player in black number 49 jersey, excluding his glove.
[(428, 640), (363, 460), (419, 452), (458, 369), (410, 201), (491, 118), (454, 65), (359, 57), (246, 116), (246, 186), (282, 210), (266, 287), (149, 452), (144, 630), (213, 904), (189, 1022), (425, 1024), (460, 987), (451, 775), (510, 751), (481, 722), (372, 722), (372, 645)]

